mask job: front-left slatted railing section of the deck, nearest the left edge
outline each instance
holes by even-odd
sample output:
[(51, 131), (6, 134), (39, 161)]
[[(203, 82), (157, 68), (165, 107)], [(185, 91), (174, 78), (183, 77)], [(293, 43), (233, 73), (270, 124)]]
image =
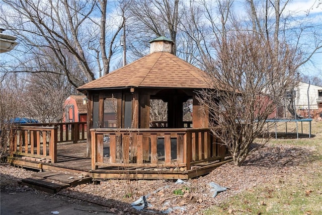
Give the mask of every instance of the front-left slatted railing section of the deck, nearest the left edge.
[(11, 130), (10, 150), (12, 155), (20, 155), (57, 162), (57, 127), (17, 126)]

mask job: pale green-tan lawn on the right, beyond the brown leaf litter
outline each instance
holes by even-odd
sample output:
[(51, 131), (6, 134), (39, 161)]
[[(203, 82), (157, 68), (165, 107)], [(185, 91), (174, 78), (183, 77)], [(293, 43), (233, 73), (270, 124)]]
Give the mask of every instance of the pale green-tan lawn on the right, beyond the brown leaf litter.
[[(308, 123), (303, 133), (308, 133)], [(285, 124), (277, 126), (279, 131)], [(288, 123), (288, 131), (296, 132), (296, 124)], [(301, 129), (301, 125), (298, 127)], [(274, 180), (259, 186), (249, 188), (224, 203), (205, 211), (206, 214), (321, 214), (322, 213), (322, 122), (312, 121), (312, 138), (278, 138), (271, 139), (269, 146), (272, 153), (279, 149), (279, 154), (291, 158), (285, 162), (292, 162), (296, 171), (288, 171), (280, 166), (284, 174), (277, 175)], [(301, 130), (300, 130), (301, 132)], [(283, 154), (280, 149), (291, 147)], [(308, 152), (310, 151), (310, 152)], [(301, 160), (300, 155), (308, 156)], [(251, 161), (252, 165), (266, 165), (276, 167), (278, 162), (271, 160), (270, 153), (262, 155), (262, 159)], [(280, 158), (282, 159), (282, 158)], [(257, 164), (256, 164), (257, 163)], [(274, 164), (275, 163), (275, 164)], [(283, 163), (284, 164), (284, 163)], [(291, 168), (291, 167), (290, 167)]]

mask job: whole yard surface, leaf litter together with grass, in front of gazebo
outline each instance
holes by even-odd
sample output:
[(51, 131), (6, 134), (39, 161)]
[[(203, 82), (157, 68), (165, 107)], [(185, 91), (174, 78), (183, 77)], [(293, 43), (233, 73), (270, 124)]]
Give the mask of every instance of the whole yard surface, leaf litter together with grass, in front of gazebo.
[[(289, 123), (288, 128), (291, 126)], [(147, 200), (153, 206), (148, 209), (184, 209), (171, 214), (322, 214), (322, 121), (312, 122), (312, 134), (312, 138), (305, 135), (296, 139), (296, 134), (272, 138), (250, 155), (244, 166), (225, 164), (206, 176), (186, 180), (186, 184), (175, 184), (175, 180), (108, 180), (70, 187), (60, 194), (117, 201), (118, 208), (128, 208), (133, 199), (150, 194)], [(2, 188), (21, 189), (15, 181), (30, 174), (1, 165)], [(210, 182), (228, 189), (213, 198)]]

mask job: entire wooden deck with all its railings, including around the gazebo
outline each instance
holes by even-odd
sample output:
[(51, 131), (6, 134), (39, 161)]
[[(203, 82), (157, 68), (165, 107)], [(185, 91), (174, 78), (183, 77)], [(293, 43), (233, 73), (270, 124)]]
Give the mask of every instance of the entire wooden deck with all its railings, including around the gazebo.
[(84, 125), (70, 126), (71, 138), (65, 139), (63, 127), (67, 125), (12, 131), (9, 162), (39, 171), (86, 172), (93, 180), (107, 180), (195, 178), (231, 161), (225, 146), (206, 128), (91, 129), (92, 158), (86, 158), (87, 142), (79, 132)]

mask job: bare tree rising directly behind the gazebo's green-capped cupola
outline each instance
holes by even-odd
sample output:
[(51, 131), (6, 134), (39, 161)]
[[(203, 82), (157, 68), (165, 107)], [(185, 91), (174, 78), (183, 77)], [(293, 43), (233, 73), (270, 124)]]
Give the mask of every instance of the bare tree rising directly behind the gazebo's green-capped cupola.
[(176, 54), (177, 32), (180, 20), (179, 0), (139, 0), (129, 7), (131, 17), (129, 46), (134, 55), (142, 57), (148, 41), (153, 37), (167, 36), (174, 43)]

